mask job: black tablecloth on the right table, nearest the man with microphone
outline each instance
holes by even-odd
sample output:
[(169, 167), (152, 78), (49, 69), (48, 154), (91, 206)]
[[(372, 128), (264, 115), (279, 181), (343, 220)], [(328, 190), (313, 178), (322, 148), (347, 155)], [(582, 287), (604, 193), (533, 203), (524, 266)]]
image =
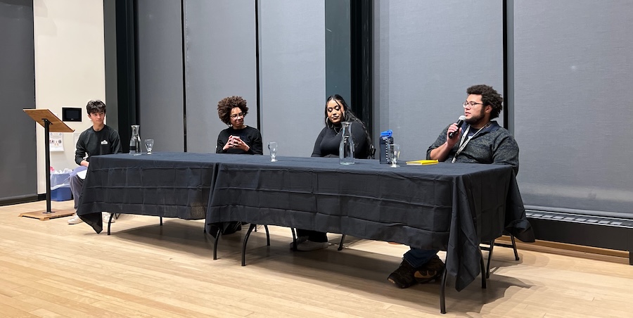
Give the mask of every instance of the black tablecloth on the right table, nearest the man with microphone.
[[(447, 250), (456, 289), (480, 273), (480, 241), (506, 225), (532, 231), (511, 167), (439, 163), (391, 168), (376, 160), (243, 158), (219, 164), (207, 226), (243, 221)], [(533, 236), (532, 239), (533, 241)]]

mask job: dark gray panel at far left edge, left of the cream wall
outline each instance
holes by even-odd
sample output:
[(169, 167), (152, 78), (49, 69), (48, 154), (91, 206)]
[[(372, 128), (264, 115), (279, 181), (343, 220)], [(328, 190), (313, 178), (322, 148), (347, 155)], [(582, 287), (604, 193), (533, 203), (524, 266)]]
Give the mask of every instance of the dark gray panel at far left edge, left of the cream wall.
[(37, 196), (33, 40), (33, 1), (0, 1), (0, 201)]

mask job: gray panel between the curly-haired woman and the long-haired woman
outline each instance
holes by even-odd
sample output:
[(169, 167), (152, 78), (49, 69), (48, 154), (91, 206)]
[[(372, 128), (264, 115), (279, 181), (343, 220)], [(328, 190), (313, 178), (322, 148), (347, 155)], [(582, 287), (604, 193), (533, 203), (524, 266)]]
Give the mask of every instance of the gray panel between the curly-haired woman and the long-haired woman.
[[(264, 148), (309, 157), (324, 123), (323, 1), (260, 1), (261, 118)], [(268, 154), (268, 151), (264, 151)]]

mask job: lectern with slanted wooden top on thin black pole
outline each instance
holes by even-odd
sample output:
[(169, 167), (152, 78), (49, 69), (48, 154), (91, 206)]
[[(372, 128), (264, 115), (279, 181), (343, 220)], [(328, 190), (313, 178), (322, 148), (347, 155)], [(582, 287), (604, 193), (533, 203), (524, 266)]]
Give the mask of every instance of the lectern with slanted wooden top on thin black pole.
[[(36, 217), (40, 220), (47, 220), (53, 215), (53, 211), (51, 210), (51, 145), (50, 145), (50, 132), (75, 132), (75, 129), (71, 129), (66, 125), (63, 121), (61, 121), (55, 114), (51, 113), (51, 110), (48, 109), (23, 109), (27, 115), (29, 115), (33, 120), (35, 120), (39, 125), (44, 127), (44, 146), (46, 148), (46, 211), (41, 212), (41, 214), (46, 215), (46, 217), (42, 218), (40, 216), (32, 216), (28, 215), (29, 213), (23, 213), (25, 217)], [(37, 212), (31, 212), (32, 214), (37, 214)], [(66, 212), (63, 215), (55, 215), (55, 217), (63, 217), (66, 215), (71, 215), (72, 213)]]

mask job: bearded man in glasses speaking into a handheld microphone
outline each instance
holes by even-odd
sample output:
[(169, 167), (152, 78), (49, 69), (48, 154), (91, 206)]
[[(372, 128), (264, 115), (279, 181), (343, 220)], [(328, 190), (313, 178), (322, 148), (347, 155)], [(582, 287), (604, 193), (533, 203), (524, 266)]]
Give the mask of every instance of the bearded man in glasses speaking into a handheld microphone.
[[(451, 163), (511, 165), (517, 173), (518, 145), (507, 129), (492, 120), (503, 110), (503, 98), (487, 85), (468, 87), (466, 94), (460, 125), (454, 123), (446, 127), (428, 147), (426, 158)], [(444, 263), (437, 252), (411, 247), (388, 280), (399, 288), (408, 288), (439, 278)]]

